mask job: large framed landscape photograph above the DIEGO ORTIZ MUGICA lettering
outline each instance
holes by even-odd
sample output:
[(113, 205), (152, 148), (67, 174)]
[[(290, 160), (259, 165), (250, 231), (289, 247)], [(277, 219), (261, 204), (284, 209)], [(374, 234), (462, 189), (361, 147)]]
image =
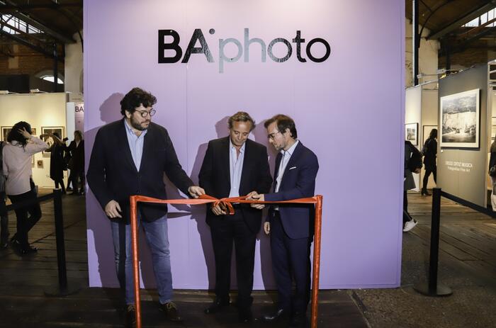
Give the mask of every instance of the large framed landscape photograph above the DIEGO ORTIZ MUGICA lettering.
[(440, 146), (478, 148), (480, 89), (441, 97), (440, 105)]

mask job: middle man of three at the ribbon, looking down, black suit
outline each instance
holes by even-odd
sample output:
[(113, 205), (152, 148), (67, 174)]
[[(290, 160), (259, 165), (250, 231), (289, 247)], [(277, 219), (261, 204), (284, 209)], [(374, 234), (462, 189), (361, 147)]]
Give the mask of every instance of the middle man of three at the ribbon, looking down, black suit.
[[(267, 149), (248, 139), (255, 128), (248, 113), (238, 112), (228, 120), (229, 136), (208, 142), (199, 179), (208, 195), (216, 198), (266, 193), (271, 188)], [(255, 242), (261, 225), (261, 209), (234, 204), (235, 214), (226, 215), (219, 206), (207, 209), (215, 255), (215, 300), (205, 313), (218, 312), (229, 305), (232, 242), (235, 243), (239, 320), (252, 319)]]

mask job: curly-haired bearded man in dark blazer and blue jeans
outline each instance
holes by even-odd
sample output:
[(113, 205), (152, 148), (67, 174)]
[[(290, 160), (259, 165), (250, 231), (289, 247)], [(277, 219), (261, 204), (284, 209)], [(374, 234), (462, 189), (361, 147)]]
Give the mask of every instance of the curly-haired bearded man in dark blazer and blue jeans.
[[(164, 172), (183, 193), (198, 197), (205, 193), (179, 164), (169, 133), (151, 122), (157, 102), (152, 94), (139, 88), (120, 101), (122, 120), (103, 126), (95, 137), (87, 179), (91, 191), (112, 219), (111, 229), (115, 268), (125, 290), (126, 323), (135, 324), (133, 259), (130, 237), (132, 195), (167, 198)], [(167, 205), (140, 204), (138, 219), (152, 251), (152, 265), (159, 293), (160, 309), (167, 319), (181, 321), (172, 298), (172, 276), (167, 237)]]

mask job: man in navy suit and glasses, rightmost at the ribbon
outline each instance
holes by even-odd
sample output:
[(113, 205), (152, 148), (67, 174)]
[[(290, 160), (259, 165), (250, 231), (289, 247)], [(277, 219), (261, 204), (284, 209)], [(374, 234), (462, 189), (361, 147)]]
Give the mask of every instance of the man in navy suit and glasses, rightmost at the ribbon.
[[(298, 140), (295, 122), (286, 115), (266, 120), (269, 142), (279, 152), (274, 172), (274, 192), (253, 194), (250, 199), (279, 201), (312, 197), (319, 169), (317, 156)], [(264, 232), (271, 235), (272, 269), (278, 290), (278, 307), (264, 315), (266, 322), (291, 317), (291, 327), (305, 327), (310, 300), (310, 244), (313, 239), (313, 205), (271, 206)], [(296, 290), (292, 291), (292, 277)]]

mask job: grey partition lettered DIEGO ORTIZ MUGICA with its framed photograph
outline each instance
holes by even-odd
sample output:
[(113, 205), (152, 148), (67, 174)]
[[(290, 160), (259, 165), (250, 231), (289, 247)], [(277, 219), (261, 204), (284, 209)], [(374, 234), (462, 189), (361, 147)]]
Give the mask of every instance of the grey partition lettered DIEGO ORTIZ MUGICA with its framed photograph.
[(439, 79), (438, 186), (483, 208), (492, 188), (487, 171), (496, 131), (495, 69), (490, 62)]

